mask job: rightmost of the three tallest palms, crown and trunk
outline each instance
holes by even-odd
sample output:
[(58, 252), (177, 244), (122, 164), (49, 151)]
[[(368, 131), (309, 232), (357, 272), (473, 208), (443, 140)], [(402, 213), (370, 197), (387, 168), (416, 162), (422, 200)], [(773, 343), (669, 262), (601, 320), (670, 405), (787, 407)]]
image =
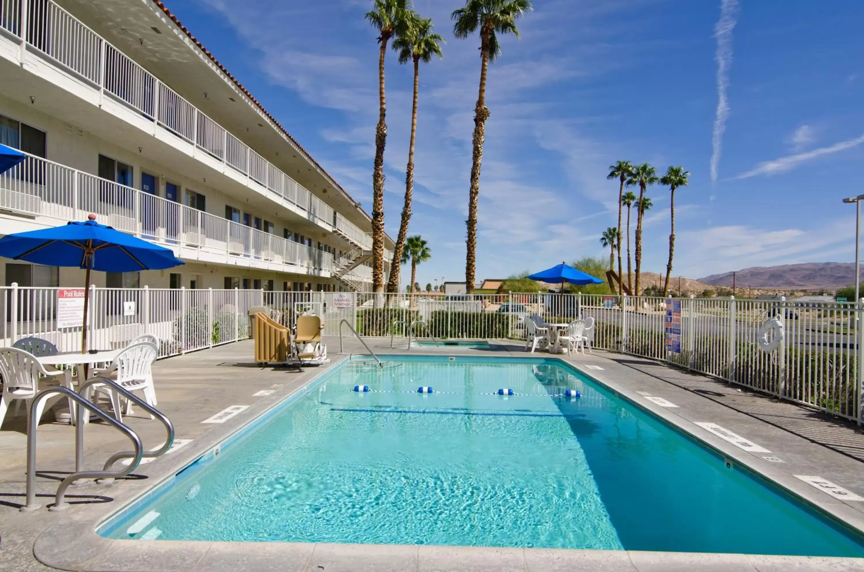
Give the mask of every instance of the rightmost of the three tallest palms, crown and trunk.
[(450, 15), (456, 22), (453, 26), (457, 38), (467, 38), (480, 29), (480, 92), (474, 106), (473, 157), (471, 163), (471, 187), (468, 191), (467, 253), (465, 257), (465, 287), (468, 294), (474, 291), (474, 269), (477, 255), (477, 195), (480, 194), (480, 163), (483, 162), (483, 141), (486, 137), (486, 72), (489, 62), (501, 54), (496, 34), (519, 36), (516, 19), (530, 10), (531, 0), (466, 0), (465, 7)]

